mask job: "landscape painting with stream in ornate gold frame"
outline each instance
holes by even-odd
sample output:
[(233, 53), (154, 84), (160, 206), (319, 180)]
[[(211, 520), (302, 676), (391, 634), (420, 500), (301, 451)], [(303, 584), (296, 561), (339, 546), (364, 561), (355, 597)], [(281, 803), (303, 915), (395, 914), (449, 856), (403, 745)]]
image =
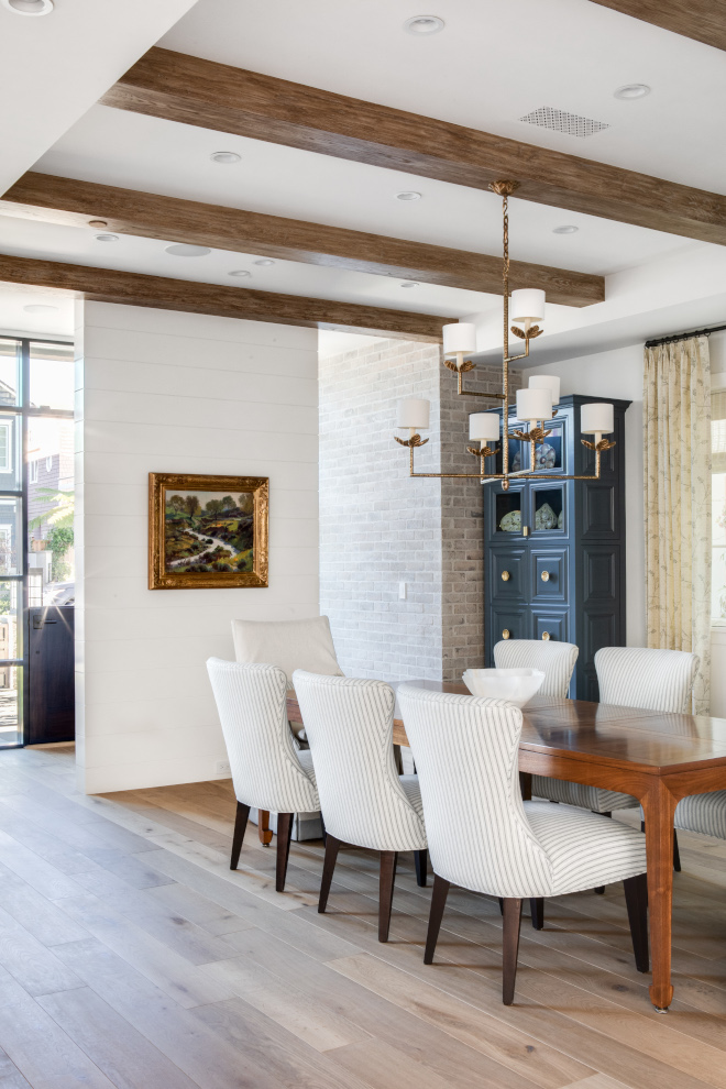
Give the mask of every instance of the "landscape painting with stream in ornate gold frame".
[(266, 476), (148, 474), (148, 588), (267, 585)]

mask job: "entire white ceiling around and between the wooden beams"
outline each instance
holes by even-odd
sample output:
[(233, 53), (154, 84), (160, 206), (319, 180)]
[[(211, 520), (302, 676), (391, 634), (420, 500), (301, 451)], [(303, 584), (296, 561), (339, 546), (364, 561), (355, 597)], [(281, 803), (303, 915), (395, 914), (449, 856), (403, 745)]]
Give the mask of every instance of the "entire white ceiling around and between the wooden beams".
[[(102, 33), (88, 15), (91, 9), (113, 16), (102, 23)], [(66, 22), (57, 19), (62, 12)], [(548, 0), (546, 6), (541, 0), (440, 0), (433, 13), (447, 25), (430, 37), (403, 31), (405, 19), (420, 11), (399, 0), (198, 0), (196, 6), (194, 0), (151, 6), (144, 0), (57, 0), (56, 11), (41, 20), (0, 8), (0, 33), (7, 24), (13, 35), (15, 87), (26, 85), (21, 78), (26, 70), (36, 80), (18, 119), (10, 127), (7, 120), (0, 124), (3, 151), (12, 161), (8, 178), (37, 158), (33, 168), (45, 173), (499, 252), (501, 205), (492, 194), (101, 106), (81, 116), (179, 13), (183, 18), (161, 45), (726, 191), (726, 141), (718, 131), (723, 111), (716, 109), (725, 99), (726, 56), (588, 0)], [(68, 22), (72, 15), (81, 24)], [(63, 77), (53, 50), (63, 59)], [(46, 70), (35, 70), (38, 62)], [(632, 81), (649, 84), (652, 94), (628, 102), (613, 97), (616, 87)], [(539, 106), (612, 128), (582, 140), (517, 120)], [(221, 150), (239, 152), (241, 162), (212, 163), (210, 154)], [(402, 189), (418, 190), (422, 198), (396, 200)], [(579, 231), (553, 234), (562, 224)], [(254, 264), (254, 254), (175, 257), (165, 253), (164, 242), (122, 235), (103, 244), (95, 233), (6, 216), (0, 217), (0, 252), (452, 318), (501, 305), (480, 293), (428, 284), (406, 289), (396, 277), (296, 262), (264, 268)], [(615, 294), (612, 285), (624, 271), (650, 270), (657, 276), (669, 261), (721, 253), (717, 246), (516, 198), (510, 250), (515, 260), (607, 275), (607, 289)], [(253, 275), (231, 278), (234, 268)], [(578, 314), (586, 322), (592, 310)], [(11, 318), (14, 322), (18, 315), (0, 292), (0, 329), (14, 328)], [(59, 311), (55, 320), (63, 324), (66, 319)]]

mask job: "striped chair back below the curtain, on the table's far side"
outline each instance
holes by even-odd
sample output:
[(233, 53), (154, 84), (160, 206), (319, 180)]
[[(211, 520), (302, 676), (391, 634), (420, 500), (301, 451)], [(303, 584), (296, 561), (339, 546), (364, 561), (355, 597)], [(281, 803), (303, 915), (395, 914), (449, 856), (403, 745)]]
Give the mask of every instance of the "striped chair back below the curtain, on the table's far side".
[(685, 650), (603, 647), (595, 654), (600, 702), (690, 713), (698, 662)]

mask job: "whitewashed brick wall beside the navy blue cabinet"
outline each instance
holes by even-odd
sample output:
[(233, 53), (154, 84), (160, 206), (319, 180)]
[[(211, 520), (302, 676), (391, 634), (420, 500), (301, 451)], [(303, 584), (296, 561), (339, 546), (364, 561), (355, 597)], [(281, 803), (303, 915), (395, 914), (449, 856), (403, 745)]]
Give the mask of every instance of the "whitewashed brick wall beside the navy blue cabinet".
[[(482, 486), (411, 480), (408, 451), (393, 441), (396, 402), (431, 402), (420, 472), (475, 472), (469, 413), (496, 402), (458, 397), (440, 348), (416, 342), (372, 339), (322, 358), (319, 378), (320, 610), (341, 667), (358, 676), (458, 680), (483, 663)], [(481, 392), (499, 382), (496, 367), (466, 376)]]

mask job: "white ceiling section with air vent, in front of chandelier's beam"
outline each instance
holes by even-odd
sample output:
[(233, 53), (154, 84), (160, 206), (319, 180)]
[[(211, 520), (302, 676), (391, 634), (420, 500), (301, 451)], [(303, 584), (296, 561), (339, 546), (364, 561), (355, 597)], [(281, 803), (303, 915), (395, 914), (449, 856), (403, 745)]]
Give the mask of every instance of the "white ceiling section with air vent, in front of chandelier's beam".
[[(199, 0), (158, 43), (240, 68), (726, 193), (726, 58), (590, 0)], [(613, 97), (641, 82), (651, 95)], [(518, 120), (540, 106), (604, 121), (586, 139)]]

